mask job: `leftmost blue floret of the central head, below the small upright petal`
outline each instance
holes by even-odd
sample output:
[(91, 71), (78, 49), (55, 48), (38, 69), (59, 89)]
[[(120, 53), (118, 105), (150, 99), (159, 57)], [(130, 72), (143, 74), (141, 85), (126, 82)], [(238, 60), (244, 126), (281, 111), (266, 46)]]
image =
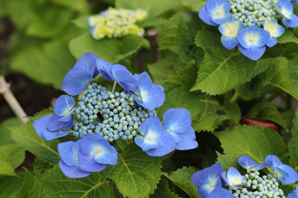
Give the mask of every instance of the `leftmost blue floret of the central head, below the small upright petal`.
[[(71, 120), (69, 120), (69, 122), (61, 122), (61, 121), (58, 121), (57, 118), (59, 119), (60, 117), (56, 116), (55, 114), (49, 114), (44, 117), (38, 118), (37, 120), (34, 120), (33, 127), (36, 133), (42, 139), (45, 139), (48, 141), (52, 139), (60, 138), (63, 136), (67, 136), (69, 132), (62, 131), (62, 129), (68, 130), (72, 126), (73, 117), (71, 118)], [(52, 128), (54, 129), (57, 128), (57, 129), (53, 131), (47, 129), (50, 123), (54, 124)]]

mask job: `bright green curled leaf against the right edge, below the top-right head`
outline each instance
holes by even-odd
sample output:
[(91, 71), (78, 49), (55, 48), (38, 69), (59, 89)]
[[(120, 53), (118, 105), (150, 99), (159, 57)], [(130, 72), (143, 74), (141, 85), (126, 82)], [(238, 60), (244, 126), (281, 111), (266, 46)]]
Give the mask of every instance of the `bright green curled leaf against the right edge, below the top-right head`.
[(268, 75), (272, 76), (270, 81), (271, 85), (283, 89), (285, 92), (298, 99), (297, 89), (291, 83), (289, 76), (287, 59), (284, 57), (273, 59)]

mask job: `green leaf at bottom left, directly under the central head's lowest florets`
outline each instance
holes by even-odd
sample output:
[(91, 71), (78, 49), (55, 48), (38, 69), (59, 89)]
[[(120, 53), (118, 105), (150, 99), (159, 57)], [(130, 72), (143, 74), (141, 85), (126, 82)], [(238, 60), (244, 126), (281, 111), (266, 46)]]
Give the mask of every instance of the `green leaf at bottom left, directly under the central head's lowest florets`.
[(110, 187), (99, 172), (83, 178), (68, 178), (56, 165), (41, 177), (42, 197), (110, 197)]

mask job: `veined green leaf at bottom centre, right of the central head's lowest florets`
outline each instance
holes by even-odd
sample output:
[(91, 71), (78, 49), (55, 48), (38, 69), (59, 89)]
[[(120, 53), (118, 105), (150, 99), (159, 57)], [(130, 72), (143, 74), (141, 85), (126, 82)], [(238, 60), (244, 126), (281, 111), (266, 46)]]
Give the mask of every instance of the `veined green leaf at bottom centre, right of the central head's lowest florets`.
[(124, 197), (148, 197), (159, 181), (160, 164), (158, 157), (151, 157), (136, 144), (129, 144), (118, 155), (118, 164), (108, 165), (103, 174), (115, 182)]

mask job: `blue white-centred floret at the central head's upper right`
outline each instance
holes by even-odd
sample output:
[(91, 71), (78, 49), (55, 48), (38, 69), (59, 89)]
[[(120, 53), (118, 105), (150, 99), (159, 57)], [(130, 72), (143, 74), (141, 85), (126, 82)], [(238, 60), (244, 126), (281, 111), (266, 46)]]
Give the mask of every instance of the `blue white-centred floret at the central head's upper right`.
[(134, 84), (134, 100), (149, 111), (162, 106), (165, 94), (158, 86), (152, 83), (149, 76), (142, 75)]

